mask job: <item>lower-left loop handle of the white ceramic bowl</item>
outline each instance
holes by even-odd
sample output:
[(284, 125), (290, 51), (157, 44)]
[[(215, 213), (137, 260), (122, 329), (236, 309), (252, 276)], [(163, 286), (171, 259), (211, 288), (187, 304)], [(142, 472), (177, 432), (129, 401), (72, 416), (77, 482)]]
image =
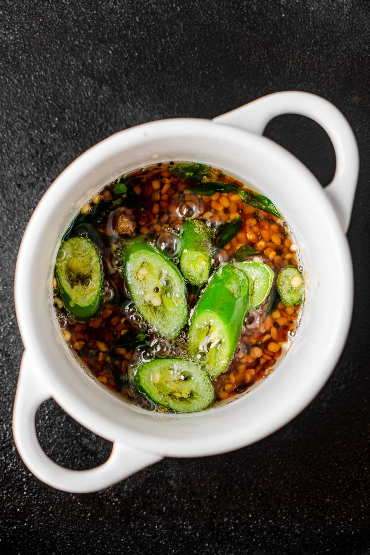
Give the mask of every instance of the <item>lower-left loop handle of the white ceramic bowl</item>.
[(103, 490), (161, 460), (161, 456), (113, 443), (107, 461), (90, 470), (69, 470), (45, 455), (36, 435), (35, 415), (40, 404), (51, 397), (48, 386), (23, 353), (13, 410), (13, 437), (19, 455), (29, 470), (49, 486), (74, 493)]

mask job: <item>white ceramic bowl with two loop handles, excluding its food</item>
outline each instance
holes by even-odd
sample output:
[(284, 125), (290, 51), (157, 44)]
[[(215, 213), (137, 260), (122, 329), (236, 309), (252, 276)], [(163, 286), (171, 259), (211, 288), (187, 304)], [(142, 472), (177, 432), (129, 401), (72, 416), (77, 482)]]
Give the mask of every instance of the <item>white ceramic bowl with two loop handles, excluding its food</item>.
[[(283, 113), (315, 119), (330, 136), (337, 167), (326, 189), (261, 136), (268, 121)], [(52, 325), (50, 276), (62, 231), (84, 199), (123, 172), (169, 160), (199, 160), (235, 173), (276, 204), (301, 248), (306, 300), (291, 349), (266, 380), (214, 410), (164, 416), (117, 398), (66, 352)], [(112, 135), (70, 164), (40, 200), (17, 261), (15, 299), (25, 351), (13, 433), (29, 470), (60, 490), (95, 491), (166, 456), (214, 455), (249, 445), (295, 417), (325, 384), (346, 341), (353, 278), (345, 233), (357, 177), (357, 144), (346, 119), (326, 100), (302, 92), (268, 95), (212, 121), (145, 123)], [(50, 461), (34, 426), (38, 406), (49, 397), (114, 442), (107, 462), (72, 471)]]

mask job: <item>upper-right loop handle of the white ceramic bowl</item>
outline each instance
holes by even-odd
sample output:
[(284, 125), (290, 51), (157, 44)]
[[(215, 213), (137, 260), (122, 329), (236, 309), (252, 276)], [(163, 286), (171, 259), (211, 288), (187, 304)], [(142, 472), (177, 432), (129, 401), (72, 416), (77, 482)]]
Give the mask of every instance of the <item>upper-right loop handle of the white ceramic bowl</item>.
[(213, 121), (262, 135), (268, 122), (281, 114), (306, 115), (329, 135), (336, 155), (336, 170), (325, 193), (346, 233), (356, 193), (359, 156), (352, 128), (338, 108), (316, 94), (286, 90), (252, 100)]

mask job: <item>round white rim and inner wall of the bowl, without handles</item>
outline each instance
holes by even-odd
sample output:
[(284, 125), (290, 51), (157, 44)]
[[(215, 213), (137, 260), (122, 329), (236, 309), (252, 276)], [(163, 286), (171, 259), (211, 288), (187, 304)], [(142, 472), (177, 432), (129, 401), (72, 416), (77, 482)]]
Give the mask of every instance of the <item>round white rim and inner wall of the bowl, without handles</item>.
[[(217, 408), (166, 416), (135, 409), (81, 369), (52, 325), (49, 284), (62, 233), (84, 200), (122, 173), (169, 160), (222, 168), (272, 200), (300, 245), (306, 299), (292, 346), (268, 379)], [(16, 308), (24, 345), (33, 352), (41, 379), (70, 415), (110, 440), (163, 455), (207, 455), (268, 435), (325, 384), (348, 332), (352, 265), (321, 185), (291, 154), (265, 137), (207, 120), (164, 120), (99, 143), (50, 186), (19, 251)]]

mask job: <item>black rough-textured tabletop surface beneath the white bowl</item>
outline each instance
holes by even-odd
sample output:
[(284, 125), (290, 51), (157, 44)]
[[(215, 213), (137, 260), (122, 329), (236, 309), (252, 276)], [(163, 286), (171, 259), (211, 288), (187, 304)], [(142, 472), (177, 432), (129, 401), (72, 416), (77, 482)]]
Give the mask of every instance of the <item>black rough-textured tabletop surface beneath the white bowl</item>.
[[(370, 553), (368, 2), (3, 0), (0, 37), (2, 553)], [(211, 118), (282, 89), (331, 100), (361, 152), (348, 233), (354, 317), (330, 381), (293, 422), (251, 447), (166, 459), (90, 495), (45, 486), (11, 432), (22, 354), (14, 265), (38, 200), (75, 157), (119, 129)], [(316, 124), (280, 117), (267, 135), (330, 181), (333, 152)], [(54, 401), (37, 426), (64, 466), (108, 456), (110, 444)]]

